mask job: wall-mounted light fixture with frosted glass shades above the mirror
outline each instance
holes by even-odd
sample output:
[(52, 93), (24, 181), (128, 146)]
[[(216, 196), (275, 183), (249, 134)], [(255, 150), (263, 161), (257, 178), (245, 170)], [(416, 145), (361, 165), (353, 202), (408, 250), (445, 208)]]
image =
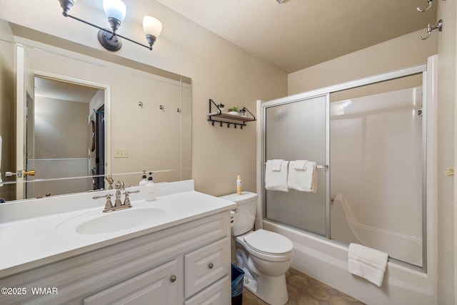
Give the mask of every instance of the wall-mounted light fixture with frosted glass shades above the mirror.
[(64, 11), (62, 14), (66, 17), (70, 17), (77, 21), (81, 21), (84, 24), (88, 24), (89, 26), (94, 26), (99, 29), (98, 38), (100, 44), (104, 46), (105, 49), (109, 51), (119, 51), (122, 46), (122, 39), (126, 39), (128, 41), (134, 42), (135, 44), (139, 44), (140, 46), (144, 46), (150, 50), (152, 50), (152, 46), (154, 42), (156, 42), (157, 37), (159, 37), (162, 31), (162, 23), (161, 21), (155, 19), (151, 16), (144, 16), (143, 19), (143, 29), (144, 34), (146, 34), (146, 41), (148, 41), (148, 46), (145, 44), (141, 44), (137, 41), (129, 39), (125, 36), (121, 36), (116, 33), (121, 26), (122, 21), (126, 17), (126, 4), (124, 4), (121, 0), (103, 0), (103, 8), (105, 11), (106, 16), (108, 17), (109, 25), (111, 29), (104, 29), (100, 26), (96, 26), (95, 24), (91, 24), (88, 21), (84, 21), (83, 19), (79, 19), (75, 16), (71, 16), (69, 11), (72, 6), (74, 6), (76, 0), (59, 0), (60, 6)]

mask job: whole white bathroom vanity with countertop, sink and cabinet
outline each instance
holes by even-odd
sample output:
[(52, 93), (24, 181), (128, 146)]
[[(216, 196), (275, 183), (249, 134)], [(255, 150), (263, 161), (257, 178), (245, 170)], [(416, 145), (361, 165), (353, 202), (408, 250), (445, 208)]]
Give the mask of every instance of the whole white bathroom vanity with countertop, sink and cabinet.
[[(135, 189), (131, 209), (106, 214), (94, 194), (0, 206), (0, 303), (230, 304), (235, 204), (193, 181), (158, 184), (155, 201)], [(21, 204), (40, 209), (19, 219)]]

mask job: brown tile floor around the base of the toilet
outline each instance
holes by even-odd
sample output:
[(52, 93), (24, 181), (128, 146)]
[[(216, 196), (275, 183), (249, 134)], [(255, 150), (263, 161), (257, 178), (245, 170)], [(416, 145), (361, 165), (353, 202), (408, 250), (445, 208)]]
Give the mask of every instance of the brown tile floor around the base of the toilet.
[[(363, 305), (347, 294), (343, 294), (311, 276), (296, 269), (286, 272), (288, 302), (287, 305)], [(243, 305), (265, 305), (247, 289), (243, 290)]]

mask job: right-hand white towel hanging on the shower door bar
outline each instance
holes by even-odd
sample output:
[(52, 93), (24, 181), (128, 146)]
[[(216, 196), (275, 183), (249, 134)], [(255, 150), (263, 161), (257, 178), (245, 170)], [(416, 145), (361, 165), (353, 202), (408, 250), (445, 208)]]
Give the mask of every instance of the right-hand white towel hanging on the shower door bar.
[(289, 162), (287, 186), (298, 191), (317, 191), (316, 162), (297, 160)]

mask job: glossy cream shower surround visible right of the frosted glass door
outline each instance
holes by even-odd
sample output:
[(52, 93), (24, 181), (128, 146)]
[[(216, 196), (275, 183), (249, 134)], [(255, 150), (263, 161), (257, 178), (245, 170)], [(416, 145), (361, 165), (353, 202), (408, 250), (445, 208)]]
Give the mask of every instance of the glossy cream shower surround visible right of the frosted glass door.
[(422, 106), (422, 86), (331, 102), (331, 239), (423, 266)]

